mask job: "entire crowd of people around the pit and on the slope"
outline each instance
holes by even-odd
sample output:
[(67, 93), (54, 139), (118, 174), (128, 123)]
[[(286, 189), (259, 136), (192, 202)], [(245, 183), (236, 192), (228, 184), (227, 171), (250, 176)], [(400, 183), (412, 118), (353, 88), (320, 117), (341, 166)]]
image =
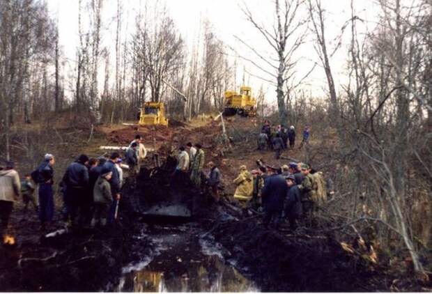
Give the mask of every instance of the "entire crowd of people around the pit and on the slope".
[[(309, 127), (303, 134), (303, 141), (309, 139)], [(261, 141), (264, 138), (265, 141)], [(269, 145), (269, 138), (272, 144)], [(268, 121), (263, 125), (260, 134), (259, 148), (268, 146), (276, 150), (279, 158), (280, 150), (295, 145), (295, 130), (291, 126), (286, 130), (278, 125), (271, 132)], [(146, 157), (146, 148), (141, 136), (137, 135), (125, 151), (125, 163), (128, 164), (130, 176), (134, 178), (141, 162)], [(6, 162), (0, 167), (0, 233), (8, 227), (13, 203), (22, 196), (24, 211), (31, 205), (38, 212), (41, 229), (54, 217), (54, 155), (47, 153), (43, 163), (20, 180), (13, 162)], [(90, 225), (106, 226), (114, 222), (121, 199), (123, 185), (123, 160), (119, 153), (110, 156), (88, 158), (79, 155), (75, 162), (69, 164), (60, 183), (63, 194), (63, 221), (70, 222), (72, 227)], [(208, 162), (207, 174), (203, 173), (205, 153), (200, 144), (187, 143), (180, 146), (178, 164), (173, 173), (173, 184), (192, 183), (197, 188), (203, 186), (219, 201), (219, 185), (221, 172), (215, 162)], [(300, 217), (311, 219), (314, 212), (326, 201), (327, 194), (333, 193), (332, 183), (323, 179), (321, 172), (316, 172), (307, 164), (291, 162), (281, 169), (271, 166), (248, 171), (245, 165), (240, 166), (238, 176), (233, 180), (236, 185), (234, 198), (237, 199), (245, 213), (248, 210), (263, 210), (263, 224), (279, 226), (285, 216), (291, 228), (295, 229)], [(205, 185), (203, 185), (205, 184)], [(38, 201), (33, 193), (38, 185)]]

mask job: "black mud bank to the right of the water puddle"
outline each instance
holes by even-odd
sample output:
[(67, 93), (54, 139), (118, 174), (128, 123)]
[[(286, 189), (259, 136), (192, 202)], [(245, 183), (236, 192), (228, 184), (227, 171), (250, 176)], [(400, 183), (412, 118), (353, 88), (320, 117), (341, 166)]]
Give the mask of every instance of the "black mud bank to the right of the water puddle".
[(330, 236), (287, 237), (253, 220), (222, 224), (213, 235), (261, 291), (364, 291), (371, 274)]

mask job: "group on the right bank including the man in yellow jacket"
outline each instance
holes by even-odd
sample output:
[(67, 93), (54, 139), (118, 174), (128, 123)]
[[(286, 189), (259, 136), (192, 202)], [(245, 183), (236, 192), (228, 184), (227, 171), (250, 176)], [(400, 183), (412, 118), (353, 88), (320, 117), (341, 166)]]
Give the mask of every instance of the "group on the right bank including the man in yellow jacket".
[(237, 185), (234, 198), (240, 201), (244, 212), (249, 209), (264, 212), (263, 225), (277, 228), (283, 217), (295, 229), (298, 219), (311, 224), (315, 212), (334, 194), (332, 181), (324, 180), (321, 171), (308, 164), (291, 162), (277, 167), (261, 166), (251, 172), (245, 165), (233, 183)]

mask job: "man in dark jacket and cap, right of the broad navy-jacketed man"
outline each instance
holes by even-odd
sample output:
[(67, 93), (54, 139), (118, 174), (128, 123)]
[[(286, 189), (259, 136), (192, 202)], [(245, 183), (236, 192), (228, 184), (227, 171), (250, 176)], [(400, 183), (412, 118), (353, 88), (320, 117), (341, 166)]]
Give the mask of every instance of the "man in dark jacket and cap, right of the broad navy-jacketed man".
[(285, 199), (285, 215), (288, 217), (289, 226), (295, 230), (297, 228), (297, 219), (302, 215), (302, 202), (300, 200), (300, 189), (295, 185), (295, 177), (287, 176), (286, 185), (288, 185), (288, 194)]

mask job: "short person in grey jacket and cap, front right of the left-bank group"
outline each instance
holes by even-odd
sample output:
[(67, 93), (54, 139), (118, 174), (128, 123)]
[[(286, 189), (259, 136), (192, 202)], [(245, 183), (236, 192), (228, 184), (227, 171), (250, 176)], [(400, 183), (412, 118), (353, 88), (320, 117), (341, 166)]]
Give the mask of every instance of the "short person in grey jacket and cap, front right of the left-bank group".
[(93, 188), (93, 201), (95, 203), (95, 212), (93, 219), (91, 219), (91, 227), (100, 222), (100, 226), (107, 225), (107, 218), (109, 217), (109, 209), (113, 203), (113, 197), (111, 194), (111, 187), (109, 180), (111, 180), (112, 172), (109, 169), (104, 168), (101, 171), (101, 175), (96, 180), (95, 187)]

